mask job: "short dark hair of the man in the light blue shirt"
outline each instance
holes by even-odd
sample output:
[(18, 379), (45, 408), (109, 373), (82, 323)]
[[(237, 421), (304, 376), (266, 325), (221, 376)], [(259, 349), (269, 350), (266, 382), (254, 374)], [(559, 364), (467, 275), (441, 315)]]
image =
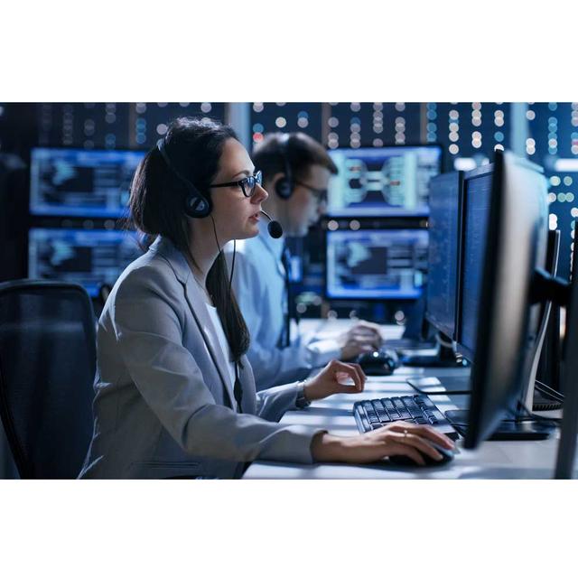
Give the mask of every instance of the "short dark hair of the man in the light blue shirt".
[(311, 136), (304, 133), (270, 133), (255, 145), (252, 154), (253, 163), (263, 172), (264, 181), (272, 179), (277, 172), (286, 172), (284, 155), (296, 179), (306, 179), (314, 164), (325, 167), (331, 174), (338, 172), (331, 156)]

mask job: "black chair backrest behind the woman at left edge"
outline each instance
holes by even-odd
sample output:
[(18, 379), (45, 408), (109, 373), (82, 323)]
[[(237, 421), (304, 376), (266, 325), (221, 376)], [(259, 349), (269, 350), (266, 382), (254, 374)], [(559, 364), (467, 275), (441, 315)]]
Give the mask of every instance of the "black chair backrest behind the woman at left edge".
[(0, 415), (21, 478), (76, 478), (92, 436), (95, 318), (77, 284), (0, 284)]

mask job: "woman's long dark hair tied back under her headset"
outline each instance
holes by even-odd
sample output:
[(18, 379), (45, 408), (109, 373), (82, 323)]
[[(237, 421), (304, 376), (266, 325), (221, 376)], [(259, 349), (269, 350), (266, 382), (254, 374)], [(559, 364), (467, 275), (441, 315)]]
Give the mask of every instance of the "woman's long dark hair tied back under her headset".
[[(180, 117), (169, 125), (165, 149), (177, 171), (209, 197), (210, 182), (219, 171), (223, 145), (229, 138), (237, 139), (230, 126)], [(171, 239), (194, 263), (189, 247), (189, 221), (184, 213), (186, 194), (186, 185), (167, 166), (155, 146), (136, 169), (130, 191), (130, 212), (133, 225), (144, 234), (145, 247), (150, 247), (161, 235)], [(222, 252), (207, 275), (207, 289), (217, 307), (233, 359), (239, 361), (248, 350), (249, 332), (232, 290), (229, 294), (228, 266)]]

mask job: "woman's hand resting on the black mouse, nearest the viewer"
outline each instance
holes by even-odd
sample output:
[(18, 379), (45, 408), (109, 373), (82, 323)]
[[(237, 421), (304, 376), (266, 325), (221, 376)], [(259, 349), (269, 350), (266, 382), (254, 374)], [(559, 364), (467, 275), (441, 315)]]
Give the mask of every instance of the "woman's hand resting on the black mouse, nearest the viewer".
[(406, 455), (419, 465), (425, 465), (423, 453), (440, 461), (442, 455), (428, 441), (452, 450), (449, 437), (430, 425), (395, 422), (378, 430), (352, 437), (318, 433), (313, 437), (311, 451), (315, 461), (346, 461), (368, 463), (390, 455)]

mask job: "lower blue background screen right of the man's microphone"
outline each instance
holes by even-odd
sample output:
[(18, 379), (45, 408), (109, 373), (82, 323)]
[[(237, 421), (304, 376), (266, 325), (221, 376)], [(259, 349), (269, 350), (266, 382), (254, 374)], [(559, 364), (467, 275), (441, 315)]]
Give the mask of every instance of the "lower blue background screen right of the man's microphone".
[(330, 299), (416, 299), (427, 268), (426, 229), (327, 231)]

